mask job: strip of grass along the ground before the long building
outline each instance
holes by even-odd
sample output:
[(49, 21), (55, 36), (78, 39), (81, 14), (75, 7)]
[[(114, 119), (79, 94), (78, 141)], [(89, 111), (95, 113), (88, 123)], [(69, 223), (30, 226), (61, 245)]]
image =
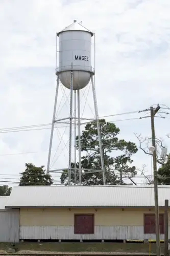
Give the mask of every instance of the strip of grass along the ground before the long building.
[[(0, 243), (0, 250), (7, 250), (11, 247), (10, 243)], [(11, 247), (12, 248), (12, 247)], [(143, 243), (37, 243), (37, 242), (20, 242), (16, 243), (17, 251), (60, 251), (60, 252), (142, 252), (149, 253), (149, 244)], [(161, 244), (163, 252), (164, 244)], [(156, 253), (156, 244), (151, 243), (151, 253)]]

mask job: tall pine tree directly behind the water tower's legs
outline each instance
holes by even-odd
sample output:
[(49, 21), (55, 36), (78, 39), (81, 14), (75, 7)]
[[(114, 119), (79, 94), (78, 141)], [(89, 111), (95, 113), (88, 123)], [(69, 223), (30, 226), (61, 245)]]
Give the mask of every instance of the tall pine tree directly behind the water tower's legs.
[[(131, 156), (137, 152), (135, 143), (118, 139), (119, 128), (114, 123), (100, 120), (100, 129), (102, 137), (104, 164), (106, 170), (106, 180), (108, 185), (125, 184), (124, 177), (134, 177), (136, 175), (135, 166), (129, 166), (133, 163)], [(78, 137), (76, 138), (78, 149)], [(102, 185), (102, 172), (91, 173), (90, 170), (101, 169), (101, 158), (99, 148), (98, 129), (96, 122), (90, 122), (85, 126), (81, 135), (81, 151), (83, 152), (82, 166), (82, 184), (83, 185)], [(116, 156), (116, 154), (119, 154)], [(123, 153), (123, 154), (121, 154)], [(78, 168), (79, 163), (76, 163)], [(71, 164), (74, 168), (74, 163)], [(68, 184), (68, 172), (63, 170), (61, 183)], [(74, 184), (74, 170), (71, 172), (71, 183)], [(76, 183), (78, 184), (78, 177)]]

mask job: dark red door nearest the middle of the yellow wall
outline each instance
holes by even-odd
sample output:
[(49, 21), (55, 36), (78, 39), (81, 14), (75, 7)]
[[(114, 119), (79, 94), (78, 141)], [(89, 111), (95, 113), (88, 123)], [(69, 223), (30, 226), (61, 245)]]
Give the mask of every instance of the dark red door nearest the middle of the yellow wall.
[(81, 214), (75, 215), (75, 234), (93, 234), (94, 233), (94, 215)]

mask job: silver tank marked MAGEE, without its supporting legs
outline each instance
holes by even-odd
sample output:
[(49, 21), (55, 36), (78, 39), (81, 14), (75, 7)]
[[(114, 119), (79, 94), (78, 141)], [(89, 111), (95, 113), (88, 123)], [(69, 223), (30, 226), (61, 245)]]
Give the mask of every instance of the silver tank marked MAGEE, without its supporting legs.
[(58, 34), (59, 67), (57, 74), (63, 86), (70, 89), (73, 72), (73, 90), (83, 89), (90, 81), (94, 69), (91, 67), (91, 37), (93, 33), (74, 20)]

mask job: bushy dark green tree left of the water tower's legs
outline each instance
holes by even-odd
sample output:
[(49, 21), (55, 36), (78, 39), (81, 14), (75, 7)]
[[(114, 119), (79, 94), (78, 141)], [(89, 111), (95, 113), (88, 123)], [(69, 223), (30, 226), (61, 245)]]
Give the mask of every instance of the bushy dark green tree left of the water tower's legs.
[(26, 163), (26, 170), (20, 173), (19, 186), (49, 186), (53, 184), (50, 174), (45, 174), (44, 166), (36, 167), (32, 163)]

